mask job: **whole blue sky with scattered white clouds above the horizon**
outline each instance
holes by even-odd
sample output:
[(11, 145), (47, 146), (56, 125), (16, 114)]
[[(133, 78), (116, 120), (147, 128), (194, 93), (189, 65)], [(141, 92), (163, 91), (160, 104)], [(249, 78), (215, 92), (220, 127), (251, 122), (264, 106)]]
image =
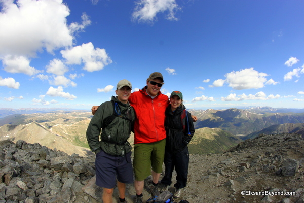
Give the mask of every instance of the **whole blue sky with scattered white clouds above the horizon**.
[(0, 0), (0, 108), (90, 110), (161, 72), (185, 106), (304, 108), (304, 1)]

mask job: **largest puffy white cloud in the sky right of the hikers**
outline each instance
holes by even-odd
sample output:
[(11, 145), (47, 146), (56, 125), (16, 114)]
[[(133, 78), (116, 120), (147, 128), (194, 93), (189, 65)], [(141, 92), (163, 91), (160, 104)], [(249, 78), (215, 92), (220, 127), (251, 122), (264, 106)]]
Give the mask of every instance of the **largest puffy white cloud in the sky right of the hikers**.
[(229, 83), (229, 87), (237, 90), (258, 89), (264, 87), (264, 83), (267, 81), (266, 76), (267, 74), (259, 73), (251, 67), (250, 69), (225, 74), (225, 82)]

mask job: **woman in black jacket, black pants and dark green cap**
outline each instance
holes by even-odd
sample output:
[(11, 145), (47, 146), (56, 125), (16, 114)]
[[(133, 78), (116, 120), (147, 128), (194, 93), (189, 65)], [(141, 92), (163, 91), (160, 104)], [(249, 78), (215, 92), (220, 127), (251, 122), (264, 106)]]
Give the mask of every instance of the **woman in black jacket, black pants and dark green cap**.
[(173, 91), (171, 93), (170, 105), (166, 109), (165, 120), (167, 138), (164, 159), (165, 175), (161, 180), (161, 183), (164, 185), (162, 191), (169, 190), (172, 183), (172, 173), (175, 168), (175, 198), (180, 197), (181, 189), (187, 185), (189, 166), (187, 145), (195, 132), (191, 113), (186, 111), (182, 101), (182, 93), (180, 91)]

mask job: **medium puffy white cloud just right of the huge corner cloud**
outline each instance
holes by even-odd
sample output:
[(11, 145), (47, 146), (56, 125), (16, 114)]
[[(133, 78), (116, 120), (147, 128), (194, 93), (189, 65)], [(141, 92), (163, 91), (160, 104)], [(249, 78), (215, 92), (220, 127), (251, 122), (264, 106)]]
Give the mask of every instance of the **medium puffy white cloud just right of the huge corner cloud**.
[(84, 63), (83, 69), (88, 72), (102, 70), (105, 65), (112, 62), (110, 57), (106, 54), (105, 49), (94, 49), (91, 42), (75, 46), (71, 49), (60, 51), (62, 57), (66, 59), (67, 64), (81, 64)]

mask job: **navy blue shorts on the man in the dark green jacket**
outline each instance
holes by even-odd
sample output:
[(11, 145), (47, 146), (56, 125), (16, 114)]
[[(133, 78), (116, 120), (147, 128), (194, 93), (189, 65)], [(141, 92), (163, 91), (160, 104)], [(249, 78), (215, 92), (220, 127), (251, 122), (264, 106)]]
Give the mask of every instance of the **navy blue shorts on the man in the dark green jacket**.
[(104, 151), (96, 154), (96, 185), (115, 188), (116, 179), (121, 183), (133, 183), (131, 152), (125, 156), (112, 156)]

